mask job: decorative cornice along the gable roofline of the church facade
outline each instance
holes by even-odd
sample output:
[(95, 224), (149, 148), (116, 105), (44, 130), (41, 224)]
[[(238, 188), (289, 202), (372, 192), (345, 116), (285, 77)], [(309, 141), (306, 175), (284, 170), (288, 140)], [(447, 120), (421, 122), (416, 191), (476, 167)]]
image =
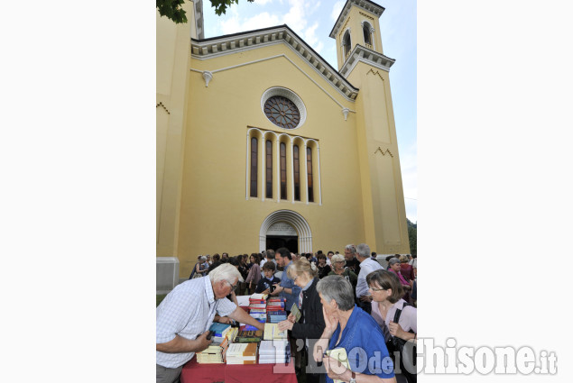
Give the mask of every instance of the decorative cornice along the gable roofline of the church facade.
[(358, 88), (350, 84), (335, 68), (323, 59), (309, 44), (287, 25), (265, 28), (256, 31), (235, 33), (205, 40), (191, 39), (191, 57), (194, 59), (210, 59), (229, 53), (237, 53), (243, 50), (252, 50), (258, 47), (285, 43), (294, 50), (301, 59), (305, 60), (310, 67), (314, 68), (325, 78), (332, 87), (351, 100), (358, 95)]

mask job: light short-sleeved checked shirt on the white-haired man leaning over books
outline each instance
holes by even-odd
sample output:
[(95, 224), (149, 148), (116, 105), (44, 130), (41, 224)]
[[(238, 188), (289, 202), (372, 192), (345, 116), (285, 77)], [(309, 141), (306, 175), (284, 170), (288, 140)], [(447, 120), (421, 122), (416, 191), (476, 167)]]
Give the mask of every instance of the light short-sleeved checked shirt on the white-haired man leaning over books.
[[(197, 339), (213, 324), (216, 312), (225, 316), (235, 310), (236, 305), (228, 299), (215, 299), (208, 276), (189, 279), (173, 288), (155, 310), (155, 342), (170, 342), (175, 335)], [(195, 352), (155, 351), (155, 362), (175, 369), (191, 360), (193, 355)]]

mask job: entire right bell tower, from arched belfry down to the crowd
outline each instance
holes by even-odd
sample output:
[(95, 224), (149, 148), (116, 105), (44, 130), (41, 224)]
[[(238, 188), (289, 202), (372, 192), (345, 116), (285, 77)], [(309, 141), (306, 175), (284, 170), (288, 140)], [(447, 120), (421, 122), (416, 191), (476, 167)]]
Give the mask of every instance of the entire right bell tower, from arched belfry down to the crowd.
[(378, 254), (410, 252), (402, 171), (394, 123), (390, 67), (379, 19), (384, 7), (347, 0), (330, 37), (337, 41), (338, 72), (359, 89), (355, 100), (365, 242)]

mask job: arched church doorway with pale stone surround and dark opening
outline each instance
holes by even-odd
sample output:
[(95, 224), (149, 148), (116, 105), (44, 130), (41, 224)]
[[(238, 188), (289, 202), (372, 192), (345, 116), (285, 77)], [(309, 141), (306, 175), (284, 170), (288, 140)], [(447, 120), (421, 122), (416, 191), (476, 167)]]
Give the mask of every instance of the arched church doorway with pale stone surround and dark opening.
[(291, 210), (279, 210), (264, 219), (259, 232), (260, 251), (280, 247), (291, 252), (312, 251), (310, 225), (302, 215)]

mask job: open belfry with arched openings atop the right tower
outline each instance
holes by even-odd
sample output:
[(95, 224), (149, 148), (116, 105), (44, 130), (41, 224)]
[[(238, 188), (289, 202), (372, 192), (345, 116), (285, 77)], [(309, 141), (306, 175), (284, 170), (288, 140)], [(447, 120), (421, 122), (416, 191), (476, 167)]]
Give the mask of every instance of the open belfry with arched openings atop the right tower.
[(383, 6), (368, 0), (347, 0), (330, 32), (330, 37), (337, 41), (338, 69), (350, 57), (356, 44), (384, 54), (378, 28), (383, 12)]

